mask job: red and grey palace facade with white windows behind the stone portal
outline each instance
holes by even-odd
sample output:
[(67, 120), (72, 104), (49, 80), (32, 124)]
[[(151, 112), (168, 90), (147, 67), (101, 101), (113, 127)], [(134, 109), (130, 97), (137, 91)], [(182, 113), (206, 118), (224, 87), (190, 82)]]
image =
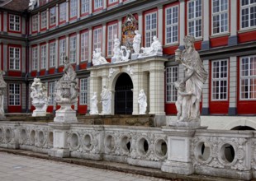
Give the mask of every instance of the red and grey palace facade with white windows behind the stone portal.
[[(63, 74), (66, 56), (79, 79), (79, 100), (74, 109), (88, 113), (92, 52), (102, 49), (102, 56), (111, 62), (114, 36), (122, 44), (132, 38), (123, 28), (128, 15), (142, 35), (141, 46), (149, 47), (154, 35), (163, 44), (163, 57), (168, 61), (164, 63), (162, 104), (168, 119), (177, 113), (173, 82), (184, 77), (174, 53), (184, 49), (186, 35), (193, 35), (208, 72), (201, 100), (202, 124), (256, 129), (254, 0), (37, 0), (31, 1), (30, 7), (27, 0), (0, 1), (0, 67), (8, 84), (6, 113), (31, 112), (34, 77), (45, 82), (50, 97), (48, 112), (58, 109), (54, 87)], [(131, 89), (126, 81), (122, 76), (116, 87)], [(121, 97), (126, 95), (117, 98)], [(129, 102), (129, 96), (124, 101)], [(114, 114), (132, 112), (119, 110)]]

